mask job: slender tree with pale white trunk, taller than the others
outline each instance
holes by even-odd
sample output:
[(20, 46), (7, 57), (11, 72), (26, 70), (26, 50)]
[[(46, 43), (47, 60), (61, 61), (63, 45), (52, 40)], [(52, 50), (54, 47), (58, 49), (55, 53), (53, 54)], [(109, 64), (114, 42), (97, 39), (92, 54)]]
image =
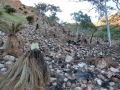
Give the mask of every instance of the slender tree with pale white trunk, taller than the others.
[[(76, 1), (76, 0), (73, 0), (73, 1)], [(83, 0), (77, 0), (77, 1), (81, 2)], [(107, 26), (107, 34), (108, 34), (108, 41), (109, 41), (109, 46), (111, 46), (112, 43), (111, 43), (111, 34), (110, 34), (110, 27), (109, 27), (109, 22), (108, 22), (107, 10), (108, 9), (113, 10), (114, 8), (106, 5), (106, 2), (108, 2), (109, 0), (87, 0), (87, 1), (92, 3), (92, 5), (94, 6), (93, 8), (96, 9), (96, 11), (99, 13), (100, 18), (105, 16), (106, 26)], [(118, 1), (118, 0), (115, 0), (115, 1)]]

